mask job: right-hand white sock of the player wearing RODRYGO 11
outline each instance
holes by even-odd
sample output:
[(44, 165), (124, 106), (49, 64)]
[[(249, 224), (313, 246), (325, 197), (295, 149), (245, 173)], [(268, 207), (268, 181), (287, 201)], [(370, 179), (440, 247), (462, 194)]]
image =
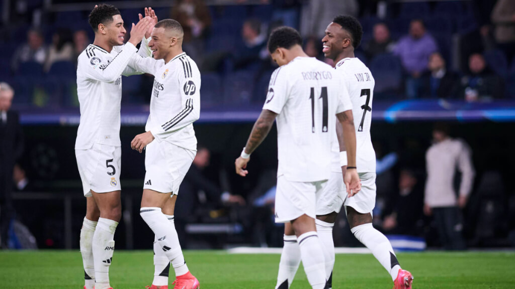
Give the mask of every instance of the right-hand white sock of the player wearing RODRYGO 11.
[(311, 231), (301, 234), (297, 238), (300, 248), (300, 256), (307, 281), (313, 289), (324, 289), (325, 287), (325, 264), (323, 250), (318, 240), (317, 232)]

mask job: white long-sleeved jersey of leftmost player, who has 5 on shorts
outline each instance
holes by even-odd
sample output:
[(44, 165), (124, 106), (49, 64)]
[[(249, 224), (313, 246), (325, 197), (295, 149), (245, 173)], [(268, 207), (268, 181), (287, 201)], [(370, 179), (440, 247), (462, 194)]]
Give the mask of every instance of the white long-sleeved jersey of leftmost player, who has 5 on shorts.
[(122, 75), (142, 74), (127, 64), (136, 51), (149, 57), (148, 41), (140, 50), (131, 43), (114, 46), (111, 53), (90, 44), (78, 57), (77, 95), (80, 104), (80, 123), (75, 141), (76, 150), (87, 150), (93, 143), (121, 146), (120, 103)]

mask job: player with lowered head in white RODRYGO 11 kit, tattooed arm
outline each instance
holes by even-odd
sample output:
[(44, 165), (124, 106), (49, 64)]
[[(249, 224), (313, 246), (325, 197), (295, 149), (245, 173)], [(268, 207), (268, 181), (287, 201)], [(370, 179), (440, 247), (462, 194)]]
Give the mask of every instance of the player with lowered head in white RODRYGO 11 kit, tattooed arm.
[(301, 45), (302, 38), (293, 28), (280, 27), (270, 34), (268, 50), (280, 67), (270, 78), (263, 111), (235, 168), (237, 174), (247, 175), (250, 154), (277, 118), (276, 222), (286, 223), (294, 231), (307, 279), (314, 289), (322, 289), (327, 280), (315, 228), (315, 203), (330, 176), (336, 119), (342, 127), (350, 128), (345, 131), (349, 164), (354, 165), (345, 176), (349, 194), (359, 191), (360, 184), (354, 164), (356, 142), (349, 96), (334, 69), (308, 57)]

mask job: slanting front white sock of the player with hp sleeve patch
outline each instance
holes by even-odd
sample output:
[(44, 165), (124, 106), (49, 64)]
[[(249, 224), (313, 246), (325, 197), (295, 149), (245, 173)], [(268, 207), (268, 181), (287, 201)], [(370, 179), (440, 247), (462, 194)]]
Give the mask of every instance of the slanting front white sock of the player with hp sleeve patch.
[(156, 234), (159, 245), (174, 267), (175, 276), (177, 277), (188, 273), (188, 267), (182, 255), (175, 226), (168, 222), (166, 216), (161, 212), (161, 208), (144, 207), (141, 208), (140, 215)]

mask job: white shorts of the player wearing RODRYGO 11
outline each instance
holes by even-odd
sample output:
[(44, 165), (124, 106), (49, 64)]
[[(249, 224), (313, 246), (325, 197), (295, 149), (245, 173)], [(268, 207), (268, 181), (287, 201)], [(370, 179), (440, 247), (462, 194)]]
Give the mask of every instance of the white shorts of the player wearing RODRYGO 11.
[(290, 182), (284, 175), (277, 178), (276, 223), (287, 223), (306, 214), (316, 218), (317, 194), (327, 180), (319, 182)]

